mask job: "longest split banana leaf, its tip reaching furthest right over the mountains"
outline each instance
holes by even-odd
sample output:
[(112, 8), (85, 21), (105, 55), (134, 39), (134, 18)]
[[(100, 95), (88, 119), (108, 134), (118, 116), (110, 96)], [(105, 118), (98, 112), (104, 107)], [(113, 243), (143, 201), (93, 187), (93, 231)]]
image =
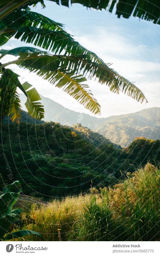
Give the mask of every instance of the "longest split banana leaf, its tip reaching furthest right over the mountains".
[(53, 76), (52, 72), (68, 72), (74, 74), (83, 74), (88, 79), (98, 79), (100, 84), (107, 85), (113, 93), (120, 91), (131, 98), (140, 101), (145, 100), (142, 91), (137, 88), (133, 83), (119, 75), (114, 69), (106, 65), (99, 65), (98, 63), (88, 60), (88, 56), (63, 56), (63, 55), (34, 55), (32, 58), (17, 60), (20, 67), (28, 68), (36, 74), (47, 77)]

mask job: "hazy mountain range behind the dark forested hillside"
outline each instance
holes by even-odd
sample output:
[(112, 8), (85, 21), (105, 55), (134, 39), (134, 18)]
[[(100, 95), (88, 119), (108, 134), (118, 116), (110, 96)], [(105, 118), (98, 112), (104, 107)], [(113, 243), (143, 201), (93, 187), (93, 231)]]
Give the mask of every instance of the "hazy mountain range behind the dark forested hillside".
[[(143, 109), (126, 115), (97, 118), (67, 109), (49, 98), (43, 96), (41, 98), (45, 109), (44, 121), (59, 122), (68, 126), (80, 123), (122, 147), (131, 144), (134, 137), (160, 139), (160, 108), (158, 107)], [(20, 94), (20, 99), (22, 108), (26, 109), (24, 105), (26, 97)]]

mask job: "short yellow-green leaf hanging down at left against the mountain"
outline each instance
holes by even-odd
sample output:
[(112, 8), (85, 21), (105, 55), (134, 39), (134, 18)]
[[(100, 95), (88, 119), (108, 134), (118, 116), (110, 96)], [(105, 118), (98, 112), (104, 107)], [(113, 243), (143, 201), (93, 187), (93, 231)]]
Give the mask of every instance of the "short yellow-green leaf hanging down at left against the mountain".
[(32, 85), (28, 82), (22, 84), (22, 87), (27, 94), (27, 101), (25, 105), (29, 112), (29, 115), (38, 120), (44, 118), (44, 107), (41, 102), (39, 102), (39, 100), (41, 100), (41, 97), (38, 94), (37, 90), (35, 88), (29, 89), (30, 87), (32, 87)]

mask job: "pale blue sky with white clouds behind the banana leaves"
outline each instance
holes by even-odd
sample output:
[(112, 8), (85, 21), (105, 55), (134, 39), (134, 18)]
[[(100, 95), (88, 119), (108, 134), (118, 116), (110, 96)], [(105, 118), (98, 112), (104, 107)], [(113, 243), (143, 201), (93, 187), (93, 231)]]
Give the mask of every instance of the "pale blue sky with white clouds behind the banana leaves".
[[(50, 1), (45, 1), (45, 4), (44, 9), (38, 4), (32, 10), (65, 24), (65, 29), (74, 35), (75, 40), (95, 52), (105, 63), (113, 63), (111, 67), (134, 82), (148, 100), (148, 103), (138, 103), (122, 93), (114, 94), (107, 86), (91, 80), (88, 81), (89, 87), (101, 105), (101, 115), (97, 117), (160, 107), (160, 25), (135, 17), (119, 19), (114, 13), (87, 10), (80, 4), (73, 4), (70, 8)], [(27, 44), (12, 38), (1, 48), (12, 49), (25, 45)], [(6, 56), (2, 63), (14, 59), (14, 56)], [(8, 67), (21, 76), (21, 82), (28, 81), (41, 95), (71, 110), (93, 115), (53, 84), (17, 65)]]

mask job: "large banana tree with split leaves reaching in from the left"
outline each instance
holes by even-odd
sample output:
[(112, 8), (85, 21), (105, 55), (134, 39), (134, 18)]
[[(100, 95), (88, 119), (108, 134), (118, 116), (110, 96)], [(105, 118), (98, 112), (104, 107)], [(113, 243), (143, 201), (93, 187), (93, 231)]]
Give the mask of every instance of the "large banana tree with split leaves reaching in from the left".
[[(18, 79), (19, 75), (7, 68), (10, 64), (27, 68), (30, 72), (34, 72), (51, 84), (62, 88), (95, 114), (100, 114), (101, 107), (92, 92), (88, 90), (89, 86), (84, 84), (87, 79), (97, 79), (100, 84), (107, 85), (113, 93), (121, 91), (137, 101), (146, 100), (143, 93), (134, 84), (110, 68), (110, 63), (104, 63), (95, 53), (76, 42), (65, 31), (62, 24), (30, 11), (28, 5), (38, 2), (41, 2), (44, 7), (43, 1), (38, 0), (28, 2), (17, 0), (11, 3), (5, 0), (5, 5), (1, 4), (0, 46), (14, 36), (16, 39), (32, 43), (33, 46), (39, 46), (42, 49), (26, 46), (0, 50), (0, 59), (5, 55), (16, 57), (12, 62), (0, 63), (1, 119), (7, 114), (11, 115), (12, 121), (20, 116), (21, 106), (17, 87), (27, 97), (25, 105), (29, 114), (36, 119), (44, 117), (44, 108), (39, 101), (41, 97), (38, 92), (28, 82), (21, 84)], [(68, 4), (68, 1), (65, 2)], [(81, 3), (85, 5), (85, 1)], [(91, 1), (91, 3), (92, 5), (85, 6), (92, 7), (93, 2)], [(96, 6), (93, 7), (96, 8)]]

